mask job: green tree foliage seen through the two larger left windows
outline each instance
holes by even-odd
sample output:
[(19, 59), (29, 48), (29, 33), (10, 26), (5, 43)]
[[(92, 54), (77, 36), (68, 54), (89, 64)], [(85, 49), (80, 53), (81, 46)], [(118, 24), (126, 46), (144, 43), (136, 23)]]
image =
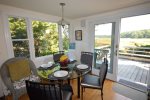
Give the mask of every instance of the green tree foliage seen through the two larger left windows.
[[(15, 57), (30, 57), (26, 19), (9, 17), (8, 20)], [(33, 21), (32, 29), (36, 57), (59, 50), (57, 23)]]

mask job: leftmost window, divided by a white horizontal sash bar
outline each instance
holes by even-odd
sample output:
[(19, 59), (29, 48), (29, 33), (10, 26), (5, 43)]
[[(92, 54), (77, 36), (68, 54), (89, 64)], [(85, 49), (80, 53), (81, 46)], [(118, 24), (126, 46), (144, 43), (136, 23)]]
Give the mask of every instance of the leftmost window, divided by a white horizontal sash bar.
[(29, 40), (25, 18), (9, 17), (8, 20), (14, 56), (29, 58)]

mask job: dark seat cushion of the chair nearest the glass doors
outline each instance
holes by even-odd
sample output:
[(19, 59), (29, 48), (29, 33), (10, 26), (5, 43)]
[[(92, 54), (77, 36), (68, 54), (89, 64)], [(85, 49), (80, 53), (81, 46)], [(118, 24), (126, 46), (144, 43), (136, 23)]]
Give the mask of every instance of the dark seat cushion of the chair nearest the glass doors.
[(94, 75), (85, 75), (81, 81), (82, 87), (101, 88), (100, 78)]

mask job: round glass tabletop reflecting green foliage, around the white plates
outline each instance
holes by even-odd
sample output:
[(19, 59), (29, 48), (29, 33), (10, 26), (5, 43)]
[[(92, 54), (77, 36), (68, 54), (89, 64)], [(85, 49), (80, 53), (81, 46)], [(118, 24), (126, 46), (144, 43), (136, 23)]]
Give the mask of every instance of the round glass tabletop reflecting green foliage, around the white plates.
[[(78, 64), (68, 64), (65, 69), (61, 68), (60, 65), (54, 65), (51, 69), (38, 69), (38, 74), (41, 78), (48, 79), (48, 80), (67, 80), (67, 79), (76, 79), (78, 77), (81, 77), (91, 71), (91, 69), (88, 67), (86, 69), (79, 69), (77, 68)], [(65, 70), (68, 72), (68, 75), (65, 77), (55, 77), (54, 73), (56, 71)]]

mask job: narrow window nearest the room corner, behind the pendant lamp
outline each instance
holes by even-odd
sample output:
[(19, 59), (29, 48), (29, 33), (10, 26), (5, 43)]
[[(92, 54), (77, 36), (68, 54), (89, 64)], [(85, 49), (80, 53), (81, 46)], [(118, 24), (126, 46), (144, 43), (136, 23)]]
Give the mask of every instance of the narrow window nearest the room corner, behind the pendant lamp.
[(69, 49), (69, 25), (65, 25), (62, 28), (62, 42), (63, 42), (63, 50), (68, 51)]

